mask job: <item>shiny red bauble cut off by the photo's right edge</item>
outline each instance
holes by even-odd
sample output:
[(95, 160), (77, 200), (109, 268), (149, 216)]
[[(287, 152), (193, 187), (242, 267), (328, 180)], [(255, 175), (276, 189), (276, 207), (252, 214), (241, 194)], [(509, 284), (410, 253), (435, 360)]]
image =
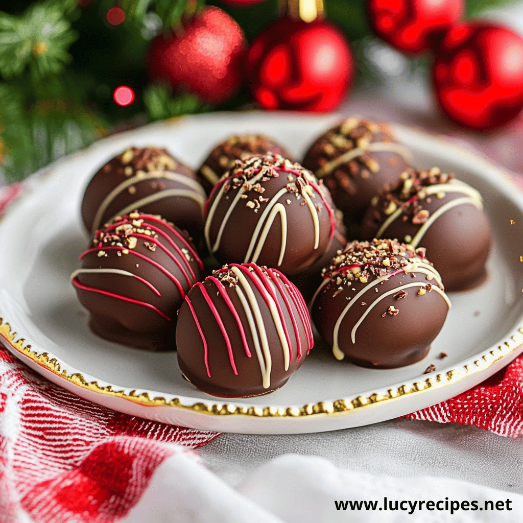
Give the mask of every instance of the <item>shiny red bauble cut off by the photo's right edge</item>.
[(454, 26), (433, 70), (437, 99), (459, 123), (487, 130), (523, 109), (523, 38), (487, 22)]

